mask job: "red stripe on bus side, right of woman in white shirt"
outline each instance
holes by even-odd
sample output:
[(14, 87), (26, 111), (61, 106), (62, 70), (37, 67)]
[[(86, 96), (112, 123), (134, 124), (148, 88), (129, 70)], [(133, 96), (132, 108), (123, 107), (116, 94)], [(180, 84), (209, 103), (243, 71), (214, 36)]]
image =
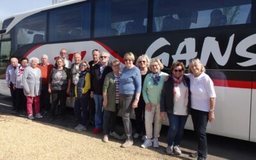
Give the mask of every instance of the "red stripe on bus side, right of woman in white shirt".
[(224, 79), (212, 79), (212, 81), (214, 83), (214, 86), (256, 89), (256, 82), (251, 82), (251, 81), (232, 81), (232, 80), (224, 80)]

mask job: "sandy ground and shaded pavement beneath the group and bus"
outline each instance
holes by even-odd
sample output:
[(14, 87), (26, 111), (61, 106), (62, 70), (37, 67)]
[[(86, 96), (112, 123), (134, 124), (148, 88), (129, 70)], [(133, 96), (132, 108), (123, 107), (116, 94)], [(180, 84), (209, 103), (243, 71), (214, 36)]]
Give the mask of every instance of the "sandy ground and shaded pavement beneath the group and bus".
[[(12, 112), (10, 97), (0, 95), (0, 159), (191, 159), (188, 155), (196, 150), (192, 131), (185, 131), (181, 143), (181, 156), (165, 154), (166, 133), (161, 131), (160, 148), (141, 148), (140, 140), (134, 146), (120, 148), (123, 141), (110, 138), (101, 141), (102, 135), (73, 128), (74, 116), (68, 109), (66, 120), (51, 122), (48, 118), (28, 120), (25, 113)], [(124, 132), (122, 119), (118, 120), (118, 132)], [(221, 136), (208, 136), (207, 159), (256, 159), (256, 143), (234, 140)]]

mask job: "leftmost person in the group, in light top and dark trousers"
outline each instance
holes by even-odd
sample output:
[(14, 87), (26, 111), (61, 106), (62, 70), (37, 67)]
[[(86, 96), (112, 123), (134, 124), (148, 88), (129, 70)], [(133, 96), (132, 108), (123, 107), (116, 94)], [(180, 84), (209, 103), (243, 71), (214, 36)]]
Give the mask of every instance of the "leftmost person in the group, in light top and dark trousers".
[(14, 111), (17, 111), (17, 105), (16, 105), (16, 90), (15, 88), (13, 88), (13, 83), (15, 83), (15, 79), (16, 79), (15, 69), (20, 66), (18, 62), (19, 60), (17, 58), (11, 58), (11, 64), (8, 65), (5, 72), (5, 77), (6, 77), (5, 80), (8, 88), (10, 88), (10, 92), (12, 96), (12, 106)]

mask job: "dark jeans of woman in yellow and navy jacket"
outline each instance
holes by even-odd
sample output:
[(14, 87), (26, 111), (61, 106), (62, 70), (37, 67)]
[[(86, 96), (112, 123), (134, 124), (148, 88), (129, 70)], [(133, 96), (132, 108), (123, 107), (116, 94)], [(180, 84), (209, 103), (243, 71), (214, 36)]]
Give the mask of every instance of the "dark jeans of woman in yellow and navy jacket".
[(76, 98), (74, 113), (76, 118), (81, 125), (86, 124), (87, 106), (89, 101), (89, 92), (82, 95), (80, 98)]

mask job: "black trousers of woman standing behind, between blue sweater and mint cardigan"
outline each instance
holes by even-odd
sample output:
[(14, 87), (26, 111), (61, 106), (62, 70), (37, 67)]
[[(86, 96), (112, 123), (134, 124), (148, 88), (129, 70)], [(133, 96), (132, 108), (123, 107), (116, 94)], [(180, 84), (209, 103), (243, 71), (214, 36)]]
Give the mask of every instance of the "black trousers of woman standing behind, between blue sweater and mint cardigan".
[(138, 102), (138, 108), (134, 109), (135, 112), (135, 122), (136, 122), (136, 132), (138, 134), (146, 135), (145, 129), (145, 101), (140, 98)]

